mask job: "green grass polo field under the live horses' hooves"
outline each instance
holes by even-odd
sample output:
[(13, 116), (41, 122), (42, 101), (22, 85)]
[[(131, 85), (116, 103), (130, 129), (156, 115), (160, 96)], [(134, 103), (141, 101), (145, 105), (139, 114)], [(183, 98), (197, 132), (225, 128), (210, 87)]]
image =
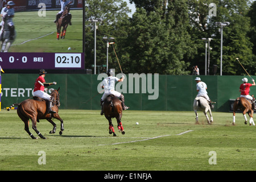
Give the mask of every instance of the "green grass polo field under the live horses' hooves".
[[(46, 120), (38, 130), (46, 140), (31, 139), (15, 110), (0, 112), (0, 170), (194, 171), (255, 170), (255, 126), (245, 125), (241, 113), (232, 126), (232, 113), (213, 113), (208, 125), (203, 113), (195, 124), (192, 111), (123, 112), (125, 135), (108, 133), (99, 110), (60, 110), (64, 133), (49, 134)], [(139, 122), (139, 125), (135, 125)], [(30, 131), (35, 136), (36, 133)], [(187, 133), (184, 133), (187, 132)], [(39, 151), (46, 164), (39, 165)], [(210, 151), (216, 163), (209, 164)]]

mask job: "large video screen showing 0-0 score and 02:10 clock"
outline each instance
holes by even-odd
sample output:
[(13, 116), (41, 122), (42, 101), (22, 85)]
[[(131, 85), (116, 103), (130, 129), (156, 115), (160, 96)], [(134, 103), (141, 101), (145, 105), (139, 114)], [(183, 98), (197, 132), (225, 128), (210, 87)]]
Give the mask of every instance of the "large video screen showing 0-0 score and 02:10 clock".
[[(67, 14), (59, 14), (65, 0), (13, 0), (13, 6), (8, 5), (10, 0), (0, 1), (1, 13), (5, 14), (0, 31), (3, 69), (84, 69), (82, 0), (66, 0), (70, 2)], [(58, 37), (59, 25), (67, 29), (61, 27)], [(14, 34), (11, 39), (8, 31)]]

